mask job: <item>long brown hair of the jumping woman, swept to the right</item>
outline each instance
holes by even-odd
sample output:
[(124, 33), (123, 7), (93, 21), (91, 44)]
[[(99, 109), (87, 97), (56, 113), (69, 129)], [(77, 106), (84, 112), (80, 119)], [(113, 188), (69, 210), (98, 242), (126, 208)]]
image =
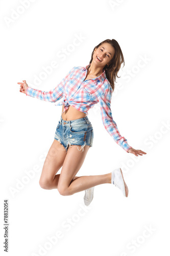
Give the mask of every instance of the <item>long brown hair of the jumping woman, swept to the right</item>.
[(116, 77), (118, 77), (118, 78), (120, 77), (120, 76), (117, 76), (117, 73), (118, 73), (122, 63), (125, 66), (124, 55), (122, 53), (122, 50), (121, 50), (118, 42), (115, 39), (112, 39), (112, 40), (106, 39), (106, 40), (100, 42), (100, 44), (98, 46), (94, 47), (92, 54), (91, 54), (91, 60), (89, 63), (92, 62), (94, 50), (96, 48), (99, 48), (104, 42), (108, 42), (115, 50), (114, 56), (110, 61), (110, 65), (109, 66), (106, 65), (103, 69), (103, 70), (105, 70), (106, 77), (110, 82), (112, 90), (114, 91), (114, 83), (116, 82)]

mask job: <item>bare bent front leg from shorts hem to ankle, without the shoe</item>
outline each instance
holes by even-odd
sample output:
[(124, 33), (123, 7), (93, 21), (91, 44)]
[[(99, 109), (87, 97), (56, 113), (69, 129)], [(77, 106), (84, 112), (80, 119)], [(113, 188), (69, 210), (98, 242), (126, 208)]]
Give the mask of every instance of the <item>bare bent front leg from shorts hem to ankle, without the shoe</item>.
[(71, 145), (71, 147), (68, 147), (67, 155), (61, 169), (58, 181), (58, 191), (63, 196), (73, 195), (100, 184), (111, 184), (111, 173), (75, 177), (85, 160), (90, 146), (85, 145), (84, 151), (78, 150), (77, 147), (77, 145)]

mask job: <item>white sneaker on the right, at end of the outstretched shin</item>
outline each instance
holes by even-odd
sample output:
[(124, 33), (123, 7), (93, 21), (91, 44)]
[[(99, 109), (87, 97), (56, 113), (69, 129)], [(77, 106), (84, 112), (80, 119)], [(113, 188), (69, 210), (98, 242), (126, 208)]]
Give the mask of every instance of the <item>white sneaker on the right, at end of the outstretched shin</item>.
[(128, 197), (129, 190), (127, 184), (124, 181), (122, 169), (117, 168), (112, 171), (111, 183), (122, 190), (125, 197)]

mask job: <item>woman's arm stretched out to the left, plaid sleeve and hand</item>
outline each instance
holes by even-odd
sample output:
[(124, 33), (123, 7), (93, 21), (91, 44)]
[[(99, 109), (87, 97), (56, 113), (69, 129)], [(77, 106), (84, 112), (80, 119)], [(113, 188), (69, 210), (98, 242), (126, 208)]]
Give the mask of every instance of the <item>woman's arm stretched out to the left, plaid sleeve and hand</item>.
[(20, 84), (20, 92), (25, 93), (27, 96), (31, 96), (40, 100), (56, 102), (63, 97), (66, 80), (69, 79), (69, 76), (74, 68), (72, 68), (68, 72), (68, 74), (61, 80), (61, 82), (51, 91), (45, 92), (38, 89), (33, 89), (28, 86), (26, 80), (23, 80), (23, 83), (18, 82), (18, 84)]

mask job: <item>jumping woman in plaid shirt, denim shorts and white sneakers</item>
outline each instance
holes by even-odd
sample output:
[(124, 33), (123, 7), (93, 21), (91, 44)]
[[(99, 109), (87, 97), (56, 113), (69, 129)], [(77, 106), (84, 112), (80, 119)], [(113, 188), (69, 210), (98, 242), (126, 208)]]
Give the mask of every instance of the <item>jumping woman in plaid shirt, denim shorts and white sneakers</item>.
[[(118, 42), (106, 39), (94, 47), (89, 65), (72, 68), (51, 91), (32, 89), (26, 80), (18, 82), (20, 92), (27, 96), (50, 102), (56, 102), (63, 97), (62, 102), (55, 104), (62, 105), (62, 114), (42, 168), (39, 180), (42, 188), (57, 188), (63, 196), (85, 190), (85, 205), (89, 205), (93, 199), (94, 186), (104, 183), (114, 184), (128, 197), (128, 186), (121, 168), (103, 175), (76, 176), (93, 143), (93, 126), (87, 117), (88, 110), (98, 102), (103, 125), (114, 141), (135, 156), (147, 154), (128, 144), (112, 118), (111, 97), (122, 63), (125, 66)], [(56, 175), (61, 167), (61, 173)]]

